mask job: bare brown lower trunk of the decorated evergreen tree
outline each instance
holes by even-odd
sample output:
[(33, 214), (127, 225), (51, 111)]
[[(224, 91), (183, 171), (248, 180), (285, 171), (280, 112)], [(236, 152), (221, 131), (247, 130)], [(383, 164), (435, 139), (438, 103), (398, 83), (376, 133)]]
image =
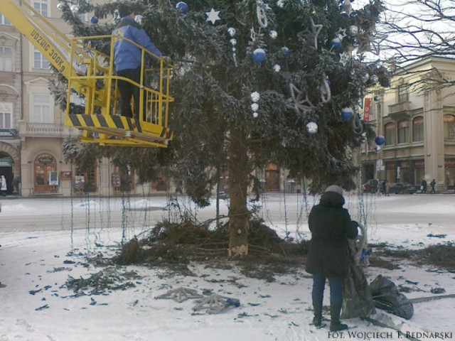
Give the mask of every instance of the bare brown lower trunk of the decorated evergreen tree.
[(229, 148), (229, 256), (248, 254), (247, 190), (250, 166), (245, 147), (245, 135), (232, 128)]

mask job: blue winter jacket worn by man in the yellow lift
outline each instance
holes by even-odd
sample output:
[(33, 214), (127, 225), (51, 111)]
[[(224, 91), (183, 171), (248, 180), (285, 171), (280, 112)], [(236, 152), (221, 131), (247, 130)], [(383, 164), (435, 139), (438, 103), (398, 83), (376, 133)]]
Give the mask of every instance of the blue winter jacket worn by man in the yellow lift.
[[(151, 42), (144, 28), (141, 28), (139, 23), (134, 21), (133, 18), (124, 16), (117, 28), (112, 31), (112, 36), (133, 40), (154, 55), (161, 57), (160, 50)], [(137, 69), (141, 66), (141, 50), (127, 40), (117, 39), (114, 43), (114, 65), (117, 72)]]

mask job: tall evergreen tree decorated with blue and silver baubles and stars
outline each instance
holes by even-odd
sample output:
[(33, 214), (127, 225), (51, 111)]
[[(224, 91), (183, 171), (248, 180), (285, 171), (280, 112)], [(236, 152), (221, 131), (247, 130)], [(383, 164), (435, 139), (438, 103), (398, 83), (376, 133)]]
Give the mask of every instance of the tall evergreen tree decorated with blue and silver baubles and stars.
[[(92, 8), (81, 1), (79, 10), (106, 17), (118, 4)], [(377, 49), (380, 0), (365, 6), (144, 0), (136, 6), (147, 33), (176, 66), (175, 139), (168, 151), (174, 175), (207, 205), (219, 175), (228, 173), (231, 256), (247, 254), (248, 190), (258, 185), (252, 172), (267, 163), (311, 179), (313, 192), (331, 183), (355, 188), (351, 151), (367, 130), (358, 107), (368, 86), (389, 81), (384, 66), (363, 58)], [(90, 28), (68, 8), (65, 18), (76, 36), (109, 33), (113, 25)]]

